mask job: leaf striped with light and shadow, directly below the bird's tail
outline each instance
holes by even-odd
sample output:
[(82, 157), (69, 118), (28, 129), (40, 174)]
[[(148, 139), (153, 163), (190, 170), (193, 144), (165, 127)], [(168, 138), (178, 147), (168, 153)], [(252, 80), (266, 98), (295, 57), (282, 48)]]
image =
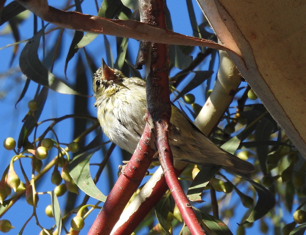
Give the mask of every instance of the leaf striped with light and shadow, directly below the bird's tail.
[(202, 203), (201, 194), (209, 180), (218, 172), (220, 167), (203, 166), (196, 175), (187, 191), (187, 197), (192, 202)]

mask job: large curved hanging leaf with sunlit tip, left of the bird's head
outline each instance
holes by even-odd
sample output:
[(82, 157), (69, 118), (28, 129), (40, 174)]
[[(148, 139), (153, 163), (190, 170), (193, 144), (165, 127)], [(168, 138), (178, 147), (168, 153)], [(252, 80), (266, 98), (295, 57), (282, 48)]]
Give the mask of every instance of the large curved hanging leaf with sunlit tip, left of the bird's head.
[(46, 27), (43, 27), (39, 32), (37, 32), (21, 51), (19, 66), (22, 73), (32, 81), (58, 93), (82, 95), (81, 93), (71, 89), (60, 79), (56, 78), (54, 74), (49, 72), (39, 60), (37, 50), (39, 48), (40, 37), (43, 35), (45, 28)]

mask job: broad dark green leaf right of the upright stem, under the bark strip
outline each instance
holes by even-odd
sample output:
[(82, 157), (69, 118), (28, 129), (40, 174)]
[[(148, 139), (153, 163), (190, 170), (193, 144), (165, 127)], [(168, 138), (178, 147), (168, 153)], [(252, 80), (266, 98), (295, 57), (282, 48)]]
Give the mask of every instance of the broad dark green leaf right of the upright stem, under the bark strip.
[(181, 70), (187, 68), (192, 63), (192, 56), (185, 55), (179, 45), (170, 45), (169, 58), (171, 63)]

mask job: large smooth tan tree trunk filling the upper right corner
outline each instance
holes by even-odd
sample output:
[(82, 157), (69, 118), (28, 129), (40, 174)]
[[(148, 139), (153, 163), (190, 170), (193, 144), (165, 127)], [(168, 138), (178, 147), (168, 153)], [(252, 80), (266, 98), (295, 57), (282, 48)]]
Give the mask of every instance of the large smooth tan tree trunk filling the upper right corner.
[(298, 150), (306, 156), (306, 3), (197, 0), (229, 55)]

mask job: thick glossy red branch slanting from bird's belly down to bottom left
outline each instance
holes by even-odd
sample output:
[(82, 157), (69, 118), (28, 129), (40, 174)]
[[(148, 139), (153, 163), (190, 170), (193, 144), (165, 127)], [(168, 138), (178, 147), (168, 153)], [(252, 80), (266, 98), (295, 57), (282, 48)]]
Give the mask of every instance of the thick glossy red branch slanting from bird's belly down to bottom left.
[(88, 232), (89, 235), (110, 234), (124, 207), (139, 187), (155, 154), (155, 150), (151, 148), (150, 134), (151, 131), (147, 123), (140, 142), (124, 169), (125, 174), (119, 176), (107, 196), (102, 210)]

